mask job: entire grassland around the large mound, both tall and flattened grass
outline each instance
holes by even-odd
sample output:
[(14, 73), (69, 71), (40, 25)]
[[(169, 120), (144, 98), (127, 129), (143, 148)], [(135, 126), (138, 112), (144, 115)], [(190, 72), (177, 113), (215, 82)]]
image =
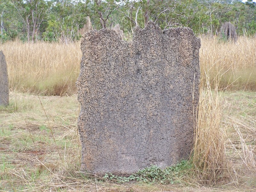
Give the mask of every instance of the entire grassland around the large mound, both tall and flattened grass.
[(10, 105), (0, 107), (0, 191), (256, 190), (254, 44), (247, 37), (237, 44), (202, 39), (190, 160), (168, 178), (126, 183), (79, 171), (79, 43), (1, 44), (11, 92)]

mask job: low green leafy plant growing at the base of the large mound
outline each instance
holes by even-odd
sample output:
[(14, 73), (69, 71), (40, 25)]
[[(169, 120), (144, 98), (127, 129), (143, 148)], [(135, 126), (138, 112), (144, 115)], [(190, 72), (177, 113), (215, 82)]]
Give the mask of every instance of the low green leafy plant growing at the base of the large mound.
[(160, 183), (179, 183), (185, 174), (188, 174), (192, 170), (192, 163), (187, 160), (181, 160), (180, 163), (161, 169), (156, 165), (146, 167), (129, 177), (116, 176), (112, 173), (106, 173), (102, 181), (116, 180), (117, 182), (129, 182), (133, 180), (142, 181), (145, 183), (149, 182), (160, 182)]

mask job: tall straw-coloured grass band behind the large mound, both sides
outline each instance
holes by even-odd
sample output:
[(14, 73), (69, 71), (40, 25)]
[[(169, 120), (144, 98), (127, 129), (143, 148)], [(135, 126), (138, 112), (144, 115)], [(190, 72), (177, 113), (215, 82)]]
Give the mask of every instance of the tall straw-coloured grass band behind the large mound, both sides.
[[(211, 88), (256, 90), (256, 38), (240, 37), (236, 44), (202, 38), (201, 72), (209, 71)], [(28, 44), (6, 42), (3, 50), (11, 90), (41, 95), (72, 95), (79, 74), (80, 42)], [(203, 79), (205, 81), (205, 79)], [(63, 88), (63, 90), (62, 90)], [(61, 92), (62, 91), (62, 92)]]

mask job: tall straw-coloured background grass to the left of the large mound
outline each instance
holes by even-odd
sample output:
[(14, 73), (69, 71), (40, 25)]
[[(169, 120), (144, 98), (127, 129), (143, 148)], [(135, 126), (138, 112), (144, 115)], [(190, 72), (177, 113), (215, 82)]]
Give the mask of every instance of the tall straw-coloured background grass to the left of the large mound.
[(82, 53), (79, 43), (0, 44), (8, 67), (9, 86), (19, 92), (65, 95), (76, 92)]

